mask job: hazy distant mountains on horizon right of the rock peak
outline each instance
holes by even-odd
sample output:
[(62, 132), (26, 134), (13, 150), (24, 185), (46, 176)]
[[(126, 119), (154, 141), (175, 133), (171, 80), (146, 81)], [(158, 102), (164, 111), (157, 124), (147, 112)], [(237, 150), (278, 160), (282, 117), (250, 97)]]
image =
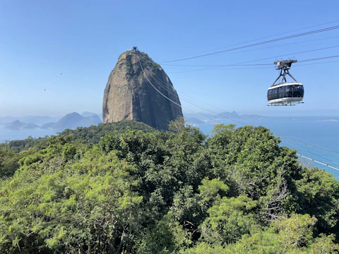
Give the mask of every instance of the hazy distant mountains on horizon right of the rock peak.
[[(225, 119), (266, 119), (265, 116), (259, 116), (256, 114), (243, 114), (239, 115), (236, 111), (233, 112), (222, 112), (220, 114), (206, 114), (206, 113), (198, 113), (197, 114), (184, 114), (187, 121), (191, 124), (201, 125), (203, 123), (210, 123), (210, 120), (218, 121)], [(210, 119), (210, 120), (208, 120)]]

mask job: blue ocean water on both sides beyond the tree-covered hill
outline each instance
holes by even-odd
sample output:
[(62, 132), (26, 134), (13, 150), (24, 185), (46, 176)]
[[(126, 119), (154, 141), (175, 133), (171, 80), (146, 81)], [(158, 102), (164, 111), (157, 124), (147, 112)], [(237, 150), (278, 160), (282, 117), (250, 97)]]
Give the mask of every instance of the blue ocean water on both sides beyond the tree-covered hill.
[[(281, 135), (310, 146), (333, 152), (333, 154), (337, 155), (281, 138), (281, 145), (296, 149), (301, 155), (316, 159), (339, 169), (339, 121), (322, 121), (328, 118), (339, 119), (339, 116), (267, 117), (266, 119), (236, 120), (252, 126), (265, 126), (277, 136)], [(218, 122), (225, 124), (234, 123), (227, 119), (218, 120)], [(244, 126), (239, 123), (235, 124), (237, 124), (237, 127)], [(214, 126), (215, 124), (206, 123), (198, 127), (203, 133), (210, 135)], [(60, 131), (49, 129), (8, 130), (0, 126), (0, 143), (4, 142), (4, 140), (21, 140), (28, 138), (28, 136), (32, 136), (33, 138), (44, 137), (46, 135), (50, 136), (59, 132)], [(319, 167), (319, 169), (326, 169), (326, 171), (339, 179), (338, 170), (331, 169), (316, 162), (311, 162), (307, 159), (301, 159), (301, 161)]]

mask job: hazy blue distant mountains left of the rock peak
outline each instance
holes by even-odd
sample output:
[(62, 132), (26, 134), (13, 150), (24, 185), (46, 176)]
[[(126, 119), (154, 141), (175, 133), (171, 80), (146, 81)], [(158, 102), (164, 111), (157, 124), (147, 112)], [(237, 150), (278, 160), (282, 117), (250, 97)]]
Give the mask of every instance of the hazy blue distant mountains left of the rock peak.
[[(54, 122), (54, 119), (57, 119), (57, 121)], [(37, 125), (37, 122), (40, 123), (40, 125)], [(98, 123), (102, 123), (102, 119), (95, 113), (84, 112), (83, 114), (78, 114), (73, 112), (71, 114), (66, 114), (66, 116), (61, 118), (52, 118), (50, 116), (24, 116), (16, 119), (12, 116), (6, 116), (0, 118), (0, 123), (5, 126), (4, 128), (11, 130), (30, 128), (64, 130), (65, 128), (96, 126)]]

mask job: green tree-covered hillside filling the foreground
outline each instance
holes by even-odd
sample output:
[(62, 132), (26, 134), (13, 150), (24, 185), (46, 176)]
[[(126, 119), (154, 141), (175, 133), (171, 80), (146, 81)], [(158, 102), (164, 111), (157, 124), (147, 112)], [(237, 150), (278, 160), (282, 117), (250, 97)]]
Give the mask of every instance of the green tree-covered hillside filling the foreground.
[(331, 174), (261, 126), (169, 129), (123, 121), (1, 145), (0, 253), (338, 251)]

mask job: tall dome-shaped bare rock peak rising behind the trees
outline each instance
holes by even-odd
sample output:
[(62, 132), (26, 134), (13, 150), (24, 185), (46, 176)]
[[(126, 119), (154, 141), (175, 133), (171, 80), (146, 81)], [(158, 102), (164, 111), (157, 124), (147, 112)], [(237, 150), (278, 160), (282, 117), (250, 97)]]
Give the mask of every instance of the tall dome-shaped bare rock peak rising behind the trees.
[[(150, 82), (163, 95), (180, 104), (177, 92), (165, 71), (147, 54), (140, 52), (139, 56)], [(160, 95), (145, 78), (138, 55), (132, 52), (121, 54), (105, 88), (102, 104), (104, 123), (127, 119), (167, 130), (169, 121), (179, 116), (182, 116), (182, 108)]]

